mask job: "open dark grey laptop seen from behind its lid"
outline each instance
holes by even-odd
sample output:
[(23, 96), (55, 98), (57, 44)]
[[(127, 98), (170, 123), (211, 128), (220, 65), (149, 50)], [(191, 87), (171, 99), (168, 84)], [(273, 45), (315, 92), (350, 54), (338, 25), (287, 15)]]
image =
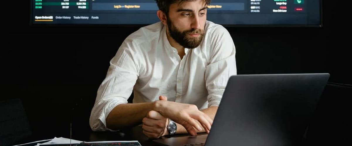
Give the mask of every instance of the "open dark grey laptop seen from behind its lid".
[(170, 146), (301, 145), (329, 74), (236, 75), (209, 135), (162, 137)]

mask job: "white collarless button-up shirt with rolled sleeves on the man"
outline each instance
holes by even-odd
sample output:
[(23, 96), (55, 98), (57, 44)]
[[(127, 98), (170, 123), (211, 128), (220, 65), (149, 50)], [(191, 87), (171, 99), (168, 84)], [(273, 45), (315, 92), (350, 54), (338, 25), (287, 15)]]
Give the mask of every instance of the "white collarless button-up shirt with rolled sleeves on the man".
[(196, 105), (200, 110), (219, 106), (228, 79), (237, 74), (235, 46), (228, 31), (207, 21), (205, 36), (181, 59), (158, 22), (132, 33), (110, 61), (90, 114), (93, 131), (105, 131), (106, 118), (119, 104), (169, 101)]

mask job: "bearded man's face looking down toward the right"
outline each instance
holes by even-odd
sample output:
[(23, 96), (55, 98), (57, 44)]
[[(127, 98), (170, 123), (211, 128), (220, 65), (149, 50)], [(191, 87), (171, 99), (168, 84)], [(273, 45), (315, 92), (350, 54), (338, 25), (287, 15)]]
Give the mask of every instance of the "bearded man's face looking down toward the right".
[(198, 47), (204, 37), (206, 14), (204, 0), (171, 4), (167, 24), (172, 39), (185, 48)]

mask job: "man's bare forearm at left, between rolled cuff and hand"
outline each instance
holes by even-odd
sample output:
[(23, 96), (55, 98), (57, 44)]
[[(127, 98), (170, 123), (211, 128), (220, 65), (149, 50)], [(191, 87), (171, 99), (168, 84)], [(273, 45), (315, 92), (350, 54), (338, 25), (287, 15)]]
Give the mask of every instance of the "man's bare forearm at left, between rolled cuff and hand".
[(142, 124), (147, 113), (155, 110), (156, 102), (120, 104), (114, 107), (106, 118), (106, 127), (118, 130), (123, 127)]

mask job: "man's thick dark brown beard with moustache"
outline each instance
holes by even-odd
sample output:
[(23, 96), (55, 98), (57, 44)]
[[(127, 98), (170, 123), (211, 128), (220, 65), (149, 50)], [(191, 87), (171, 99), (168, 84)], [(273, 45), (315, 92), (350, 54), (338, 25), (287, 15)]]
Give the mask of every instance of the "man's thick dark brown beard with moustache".
[[(204, 37), (204, 30), (192, 28), (181, 32), (170, 19), (167, 19), (169, 34), (177, 43), (184, 48), (194, 49), (199, 46)], [(191, 37), (189, 34), (199, 34), (199, 37)]]

